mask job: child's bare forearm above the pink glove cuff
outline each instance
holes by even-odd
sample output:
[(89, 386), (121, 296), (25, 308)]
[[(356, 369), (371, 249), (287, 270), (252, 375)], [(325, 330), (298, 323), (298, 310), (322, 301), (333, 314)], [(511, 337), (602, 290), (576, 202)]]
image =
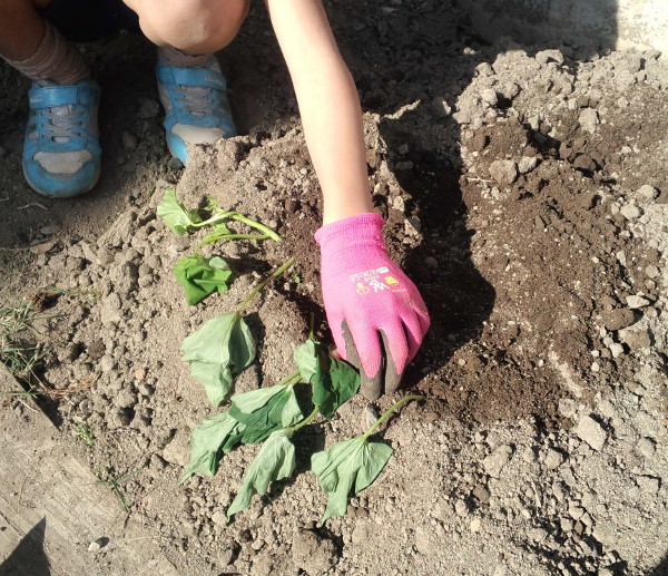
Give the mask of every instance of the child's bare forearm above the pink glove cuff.
[(325, 224), (371, 212), (362, 110), (320, 0), (266, 0), (295, 87)]

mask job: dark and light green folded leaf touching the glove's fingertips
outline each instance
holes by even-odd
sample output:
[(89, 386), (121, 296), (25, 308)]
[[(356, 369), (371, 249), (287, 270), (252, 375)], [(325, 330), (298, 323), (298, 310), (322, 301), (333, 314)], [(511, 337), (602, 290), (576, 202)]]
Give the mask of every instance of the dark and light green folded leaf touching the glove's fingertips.
[(343, 360), (334, 360), (320, 342), (306, 341), (294, 353), (302, 378), (313, 384), (313, 403), (331, 419), (360, 390), (360, 373)]

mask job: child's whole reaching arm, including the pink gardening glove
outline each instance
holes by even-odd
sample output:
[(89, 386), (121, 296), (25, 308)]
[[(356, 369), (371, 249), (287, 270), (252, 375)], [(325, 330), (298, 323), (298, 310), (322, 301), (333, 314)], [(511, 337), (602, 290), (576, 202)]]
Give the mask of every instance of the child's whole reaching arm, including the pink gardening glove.
[[(413, 283), (390, 260), (366, 176), (360, 99), (321, 0), (265, 0), (295, 87), (324, 196), (321, 280), (338, 352), (370, 399), (394, 392), (429, 328)], [(383, 357), (386, 365), (383, 365)]]

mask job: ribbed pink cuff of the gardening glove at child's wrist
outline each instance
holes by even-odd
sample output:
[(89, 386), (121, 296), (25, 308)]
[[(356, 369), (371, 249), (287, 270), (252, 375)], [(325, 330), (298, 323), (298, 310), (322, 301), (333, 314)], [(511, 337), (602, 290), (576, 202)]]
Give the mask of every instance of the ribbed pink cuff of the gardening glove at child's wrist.
[(331, 222), (315, 233), (315, 242), (327, 252), (370, 244), (380, 244), (384, 248), (383, 217), (375, 212), (365, 212)]

